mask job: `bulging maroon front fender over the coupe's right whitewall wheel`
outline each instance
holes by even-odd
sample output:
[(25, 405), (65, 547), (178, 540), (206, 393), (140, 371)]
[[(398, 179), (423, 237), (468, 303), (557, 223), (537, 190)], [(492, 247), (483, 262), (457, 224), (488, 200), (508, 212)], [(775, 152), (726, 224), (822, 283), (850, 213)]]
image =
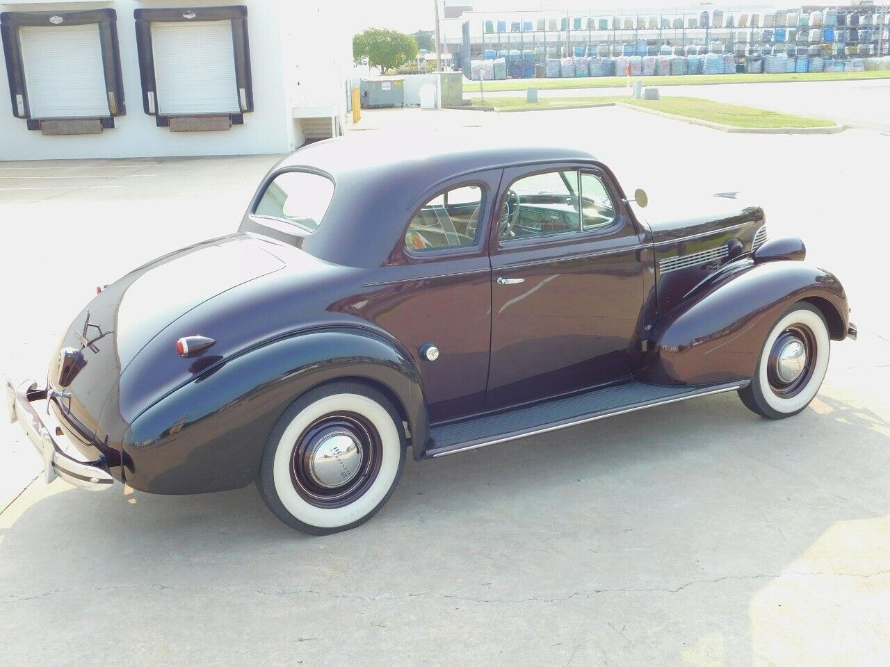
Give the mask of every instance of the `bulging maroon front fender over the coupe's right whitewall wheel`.
[(801, 261), (748, 261), (747, 269), (728, 271), (659, 320), (641, 379), (703, 384), (751, 378), (770, 328), (804, 300), (821, 309), (834, 340), (845, 338), (850, 309), (837, 277)]

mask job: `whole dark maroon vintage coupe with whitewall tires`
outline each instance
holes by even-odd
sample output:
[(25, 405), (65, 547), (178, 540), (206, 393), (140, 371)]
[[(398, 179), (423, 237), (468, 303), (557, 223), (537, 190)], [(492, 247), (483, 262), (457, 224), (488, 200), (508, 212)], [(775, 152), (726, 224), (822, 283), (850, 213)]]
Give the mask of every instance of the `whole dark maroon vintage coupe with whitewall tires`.
[(769, 240), (757, 206), (643, 216), (645, 193), (631, 206), (584, 150), (429, 150), (312, 144), (237, 234), (101, 289), (45, 386), (8, 387), (46, 478), (255, 482), (288, 526), (333, 533), (383, 506), (409, 447), (433, 459), (724, 391), (781, 419), (819, 390), (829, 342), (855, 338), (837, 278)]

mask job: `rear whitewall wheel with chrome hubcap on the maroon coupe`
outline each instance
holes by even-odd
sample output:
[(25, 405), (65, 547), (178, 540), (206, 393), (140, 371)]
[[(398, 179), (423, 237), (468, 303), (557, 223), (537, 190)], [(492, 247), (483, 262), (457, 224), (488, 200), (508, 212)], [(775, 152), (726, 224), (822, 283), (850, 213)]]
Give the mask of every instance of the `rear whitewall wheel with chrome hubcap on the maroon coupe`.
[(389, 500), (405, 466), (401, 419), (358, 382), (311, 390), (287, 408), (263, 451), (256, 486), (281, 521), (309, 534), (360, 526)]

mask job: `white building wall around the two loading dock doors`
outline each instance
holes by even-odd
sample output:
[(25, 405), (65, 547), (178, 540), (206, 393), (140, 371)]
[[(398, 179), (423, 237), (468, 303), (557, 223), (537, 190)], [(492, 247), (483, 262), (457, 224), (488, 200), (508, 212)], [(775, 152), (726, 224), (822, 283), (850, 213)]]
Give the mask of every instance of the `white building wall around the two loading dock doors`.
[[(134, 9), (247, 6), (254, 108), (228, 131), (171, 133), (142, 109)], [(295, 104), (335, 105), (345, 114), (344, 80), (352, 66), (351, 36), (319, 11), (325, 3), (294, 0), (118, 0), (117, 2), (0, 2), (4, 12), (62, 12), (111, 8), (117, 12), (126, 115), (101, 134), (44, 136), (12, 116), (4, 59), (0, 59), (0, 160), (89, 157), (162, 157), (287, 153), (303, 143)], [(348, 49), (344, 48), (348, 45)], [(329, 54), (329, 55), (328, 55)], [(345, 59), (345, 60), (344, 60)], [(341, 72), (341, 69), (343, 71)], [(297, 75), (297, 73), (299, 73)], [(297, 85), (297, 82), (299, 85)], [(346, 119), (344, 118), (344, 121)]]

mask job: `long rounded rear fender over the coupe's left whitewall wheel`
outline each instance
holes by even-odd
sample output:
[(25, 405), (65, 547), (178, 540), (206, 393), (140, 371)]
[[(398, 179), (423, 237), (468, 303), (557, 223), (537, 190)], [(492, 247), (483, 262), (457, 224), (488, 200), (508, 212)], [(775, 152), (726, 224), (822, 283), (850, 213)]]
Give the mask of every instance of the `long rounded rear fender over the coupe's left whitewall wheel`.
[(415, 447), (429, 430), (417, 372), (376, 333), (298, 333), (208, 368), (137, 417), (123, 443), (126, 482), (156, 494), (246, 486), (266, 439), (295, 398), (322, 382), (354, 378), (400, 404)]

